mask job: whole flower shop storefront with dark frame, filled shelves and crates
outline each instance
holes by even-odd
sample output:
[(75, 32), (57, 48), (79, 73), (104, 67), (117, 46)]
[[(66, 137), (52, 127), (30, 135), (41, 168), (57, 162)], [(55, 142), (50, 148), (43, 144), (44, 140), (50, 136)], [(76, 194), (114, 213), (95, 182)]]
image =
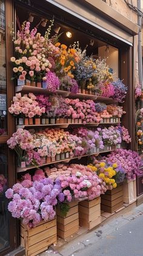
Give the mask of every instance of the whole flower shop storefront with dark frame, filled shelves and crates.
[(0, 1), (0, 255), (97, 226), (141, 161), (133, 36), (38, 2)]

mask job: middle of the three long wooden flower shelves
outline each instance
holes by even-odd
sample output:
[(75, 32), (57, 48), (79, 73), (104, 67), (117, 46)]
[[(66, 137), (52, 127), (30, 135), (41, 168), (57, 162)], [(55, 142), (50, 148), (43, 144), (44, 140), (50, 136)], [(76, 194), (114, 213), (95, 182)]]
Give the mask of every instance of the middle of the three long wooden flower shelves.
[(68, 126), (88, 126), (88, 127), (97, 127), (99, 125), (109, 125), (109, 126), (114, 126), (114, 125), (117, 125), (117, 124), (120, 124), (121, 122), (116, 122), (116, 123), (89, 123), (89, 124), (39, 124), (39, 125), (36, 125), (36, 124), (28, 124), (28, 125), (25, 125), (25, 124), (22, 124), (22, 125), (18, 125), (16, 126), (16, 129), (19, 129), (19, 128), (22, 128), (24, 129), (25, 127), (53, 127), (53, 126), (58, 126), (59, 128), (67, 128)]

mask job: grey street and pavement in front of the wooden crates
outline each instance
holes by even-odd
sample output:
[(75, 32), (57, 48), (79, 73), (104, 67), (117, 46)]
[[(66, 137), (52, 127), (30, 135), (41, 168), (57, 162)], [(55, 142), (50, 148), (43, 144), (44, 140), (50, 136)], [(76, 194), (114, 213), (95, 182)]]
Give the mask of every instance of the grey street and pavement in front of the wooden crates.
[(41, 256), (143, 256), (143, 204)]

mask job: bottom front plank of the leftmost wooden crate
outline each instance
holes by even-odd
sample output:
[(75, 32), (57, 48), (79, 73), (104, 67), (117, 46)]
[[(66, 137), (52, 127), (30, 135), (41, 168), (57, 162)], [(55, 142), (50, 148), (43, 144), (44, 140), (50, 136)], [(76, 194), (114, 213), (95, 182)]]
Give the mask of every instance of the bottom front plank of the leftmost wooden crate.
[(28, 255), (32, 255), (35, 252), (37, 253), (39, 250), (44, 249), (45, 247), (48, 248), (48, 246), (56, 242), (57, 242), (57, 235), (50, 236), (49, 238), (46, 238), (45, 240), (42, 240), (41, 242), (34, 244), (33, 246), (30, 246), (28, 248)]

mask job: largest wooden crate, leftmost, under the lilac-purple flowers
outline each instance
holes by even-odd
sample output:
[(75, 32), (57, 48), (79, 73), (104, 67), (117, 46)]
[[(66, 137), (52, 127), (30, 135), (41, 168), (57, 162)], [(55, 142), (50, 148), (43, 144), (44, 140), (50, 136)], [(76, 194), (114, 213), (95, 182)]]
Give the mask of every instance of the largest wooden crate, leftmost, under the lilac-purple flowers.
[(41, 221), (38, 226), (29, 229), (28, 226), (20, 224), (21, 245), (25, 247), (26, 256), (35, 256), (48, 249), (57, 242), (56, 219), (52, 221)]

